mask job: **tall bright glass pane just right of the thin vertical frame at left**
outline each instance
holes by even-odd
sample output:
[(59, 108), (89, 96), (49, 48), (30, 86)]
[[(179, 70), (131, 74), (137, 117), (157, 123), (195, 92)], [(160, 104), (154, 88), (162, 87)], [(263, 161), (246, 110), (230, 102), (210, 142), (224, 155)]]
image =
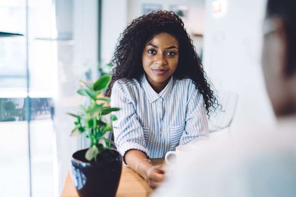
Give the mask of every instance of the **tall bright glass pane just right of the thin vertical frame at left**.
[(57, 83), (54, 2), (28, 1), (32, 196), (58, 196), (52, 97)]

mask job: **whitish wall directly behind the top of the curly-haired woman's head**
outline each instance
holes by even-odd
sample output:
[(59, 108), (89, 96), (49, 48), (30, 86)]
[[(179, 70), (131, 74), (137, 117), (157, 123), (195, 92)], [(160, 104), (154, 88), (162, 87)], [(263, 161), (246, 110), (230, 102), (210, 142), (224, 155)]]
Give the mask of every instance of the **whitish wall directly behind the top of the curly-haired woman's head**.
[[(188, 32), (203, 33), (204, 31), (204, 0), (104, 0), (102, 1), (102, 30), (101, 30), (101, 59), (102, 64), (107, 64), (112, 58), (115, 44), (120, 33), (133, 19), (142, 16), (142, 5), (144, 3), (162, 4), (163, 9), (169, 9), (169, 5), (189, 5), (188, 20), (185, 27)], [(193, 38), (197, 48), (202, 46), (200, 38)]]

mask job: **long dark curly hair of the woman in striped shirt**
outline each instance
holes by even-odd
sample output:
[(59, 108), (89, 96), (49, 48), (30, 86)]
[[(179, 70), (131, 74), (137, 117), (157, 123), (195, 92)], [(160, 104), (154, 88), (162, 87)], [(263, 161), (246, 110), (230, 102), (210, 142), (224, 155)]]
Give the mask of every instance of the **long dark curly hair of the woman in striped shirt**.
[(118, 79), (137, 79), (145, 72), (142, 65), (142, 53), (145, 45), (158, 33), (168, 33), (179, 42), (179, 61), (174, 78), (192, 79), (202, 94), (209, 115), (210, 109), (216, 110), (218, 100), (211, 90), (200, 58), (195, 52), (193, 42), (184, 28), (181, 18), (174, 12), (158, 11), (134, 19), (120, 34), (111, 60), (112, 79), (105, 95), (111, 96), (113, 84)]

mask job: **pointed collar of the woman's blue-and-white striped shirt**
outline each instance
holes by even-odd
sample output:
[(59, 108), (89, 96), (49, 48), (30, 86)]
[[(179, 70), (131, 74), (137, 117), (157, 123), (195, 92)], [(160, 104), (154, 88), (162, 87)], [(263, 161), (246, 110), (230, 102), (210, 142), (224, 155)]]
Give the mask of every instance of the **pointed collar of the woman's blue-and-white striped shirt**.
[(168, 84), (159, 94), (157, 94), (157, 92), (155, 92), (154, 89), (151, 87), (145, 74), (141, 76), (141, 86), (144, 89), (150, 103), (156, 101), (160, 97), (163, 98), (163, 100), (166, 100), (173, 88), (173, 76), (170, 77)]

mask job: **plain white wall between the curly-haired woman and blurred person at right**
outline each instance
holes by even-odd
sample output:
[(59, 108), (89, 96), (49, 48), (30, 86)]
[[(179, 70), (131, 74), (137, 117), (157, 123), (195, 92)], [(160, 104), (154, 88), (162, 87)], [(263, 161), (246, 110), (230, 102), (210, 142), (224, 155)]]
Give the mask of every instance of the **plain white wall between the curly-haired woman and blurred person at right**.
[(265, 0), (228, 0), (218, 19), (212, 1), (206, 1), (203, 64), (217, 89), (239, 94), (231, 131), (273, 124), (260, 65)]

